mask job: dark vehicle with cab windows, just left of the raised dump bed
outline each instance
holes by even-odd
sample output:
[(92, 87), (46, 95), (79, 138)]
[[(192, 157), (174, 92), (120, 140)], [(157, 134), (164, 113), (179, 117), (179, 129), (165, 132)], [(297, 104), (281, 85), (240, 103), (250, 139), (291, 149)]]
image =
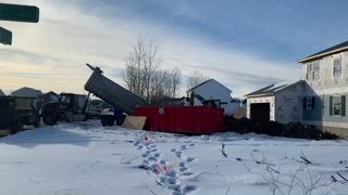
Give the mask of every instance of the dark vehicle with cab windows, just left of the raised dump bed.
[(87, 120), (87, 95), (61, 93), (58, 102), (49, 102), (42, 105), (42, 121), (49, 126), (53, 126), (58, 121), (85, 121)]

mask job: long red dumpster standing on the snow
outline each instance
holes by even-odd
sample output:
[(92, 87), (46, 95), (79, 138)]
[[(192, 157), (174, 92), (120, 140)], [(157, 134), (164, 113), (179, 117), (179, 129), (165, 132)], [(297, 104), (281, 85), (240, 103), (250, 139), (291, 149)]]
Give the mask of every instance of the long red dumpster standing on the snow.
[(217, 107), (136, 107), (134, 114), (147, 117), (149, 131), (209, 134), (224, 129), (224, 109)]

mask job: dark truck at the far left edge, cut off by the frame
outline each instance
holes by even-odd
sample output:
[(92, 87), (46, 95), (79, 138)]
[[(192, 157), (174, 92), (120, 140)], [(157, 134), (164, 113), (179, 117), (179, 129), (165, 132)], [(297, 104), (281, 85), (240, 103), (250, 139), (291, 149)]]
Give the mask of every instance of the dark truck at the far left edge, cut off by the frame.
[(40, 115), (33, 98), (0, 96), (0, 130), (16, 133), (23, 125), (39, 127)]

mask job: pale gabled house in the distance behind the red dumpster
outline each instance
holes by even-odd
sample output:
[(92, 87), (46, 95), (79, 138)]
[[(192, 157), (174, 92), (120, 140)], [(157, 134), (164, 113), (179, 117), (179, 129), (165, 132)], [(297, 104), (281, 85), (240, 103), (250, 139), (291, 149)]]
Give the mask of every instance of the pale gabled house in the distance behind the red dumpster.
[(203, 105), (204, 101), (220, 101), (221, 107), (225, 109), (225, 115), (233, 115), (240, 107), (240, 101), (231, 98), (232, 91), (217, 82), (209, 79), (187, 91), (187, 96), (191, 99), (192, 105)]

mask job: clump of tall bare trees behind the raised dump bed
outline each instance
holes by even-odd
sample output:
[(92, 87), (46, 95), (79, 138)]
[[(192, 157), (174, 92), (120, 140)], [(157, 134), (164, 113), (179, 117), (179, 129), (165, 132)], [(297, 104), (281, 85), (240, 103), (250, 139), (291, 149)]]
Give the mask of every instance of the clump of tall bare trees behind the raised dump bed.
[(160, 69), (158, 47), (142, 36), (138, 37), (126, 60), (123, 79), (130, 92), (141, 96), (147, 104), (156, 105), (164, 99), (175, 98), (182, 81), (182, 72)]

